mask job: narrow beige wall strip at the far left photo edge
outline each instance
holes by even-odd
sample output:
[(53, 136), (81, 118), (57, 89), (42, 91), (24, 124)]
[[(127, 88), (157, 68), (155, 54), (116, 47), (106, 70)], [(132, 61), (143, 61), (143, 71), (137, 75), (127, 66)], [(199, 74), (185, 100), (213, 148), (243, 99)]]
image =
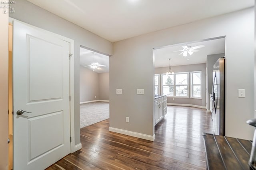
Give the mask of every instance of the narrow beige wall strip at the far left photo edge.
[(0, 169), (8, 169), (8, 14), (0, 9)]

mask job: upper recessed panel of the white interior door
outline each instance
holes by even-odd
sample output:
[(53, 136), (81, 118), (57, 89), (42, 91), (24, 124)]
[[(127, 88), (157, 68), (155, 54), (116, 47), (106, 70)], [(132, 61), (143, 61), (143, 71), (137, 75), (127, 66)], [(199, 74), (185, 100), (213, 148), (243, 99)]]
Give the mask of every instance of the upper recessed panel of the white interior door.
[[(29, 101), (61, 99), (63, 91), (62, 46), (32, 36), (28, 36), (27, 38), (29, 60), (28, 81), (30, 83)], [(49, 65), (49, 63), (52, 64)], [(42, 70), (38, 68), (47, 69)]]

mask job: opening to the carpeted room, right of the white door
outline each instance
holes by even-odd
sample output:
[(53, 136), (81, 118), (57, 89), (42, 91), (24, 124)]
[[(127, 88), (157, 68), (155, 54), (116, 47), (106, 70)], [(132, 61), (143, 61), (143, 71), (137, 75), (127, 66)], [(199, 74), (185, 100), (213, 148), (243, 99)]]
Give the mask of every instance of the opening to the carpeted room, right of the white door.
[(109, 56), (80, 46), (80, 128), (109, 118)]

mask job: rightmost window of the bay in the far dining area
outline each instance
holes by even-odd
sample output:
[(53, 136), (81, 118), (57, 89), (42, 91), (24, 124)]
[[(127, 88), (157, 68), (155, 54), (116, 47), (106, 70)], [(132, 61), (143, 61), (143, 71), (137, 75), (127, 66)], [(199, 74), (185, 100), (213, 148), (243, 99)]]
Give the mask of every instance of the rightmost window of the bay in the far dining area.
[(201, 98), (201, 72), (191, 73), (191, 98)]

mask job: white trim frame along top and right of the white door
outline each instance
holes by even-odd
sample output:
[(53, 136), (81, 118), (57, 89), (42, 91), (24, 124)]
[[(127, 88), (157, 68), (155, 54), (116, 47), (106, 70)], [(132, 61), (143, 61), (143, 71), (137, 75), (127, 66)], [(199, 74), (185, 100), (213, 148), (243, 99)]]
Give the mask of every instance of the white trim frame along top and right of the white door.
[(72, 138), (71, 140), (71, 143), (70, 143), (70, 152), (73, 153), (73, 152), (76, 152), (77, 150), (80, 149), (80, 144), (78, 144), (79, 146), (75, 146), (75, 124), (74, 124), (74, 40), (70, 39), (70, 38), (67, 38), (67, 37), (64, 37), (64, 36), (61, 36), (61, 35), (58, 35), (58, 34), (55, 34), (53, 32), (50, 32), (50, 31), (47, 31), (47, 30), (44, 30), (42, 28), (38, 28), (36, 26), (32, 26), (30, 24), (27, 24), (25, 22), (22, 22), (20, 20), (16, 20), (14, 18), (11, 18), (9, 17), (9, 22), (13, 22), (13, 21), (18, 21), (24, 25), (27, 25), (27, 26), (30, 26), (36, 30), (39, 30), (41, 32), (44, 32), (46, 34), (52, 34), (54, 35), (56, 38), (59, 38), (61, 40), (64, 40), (68, 43), (70, 43), (70, 72), (69, 72), (69, 75), (70, 75), (70, 80), (69, 80), (69, 83), (70, 83), (70, 137)]

